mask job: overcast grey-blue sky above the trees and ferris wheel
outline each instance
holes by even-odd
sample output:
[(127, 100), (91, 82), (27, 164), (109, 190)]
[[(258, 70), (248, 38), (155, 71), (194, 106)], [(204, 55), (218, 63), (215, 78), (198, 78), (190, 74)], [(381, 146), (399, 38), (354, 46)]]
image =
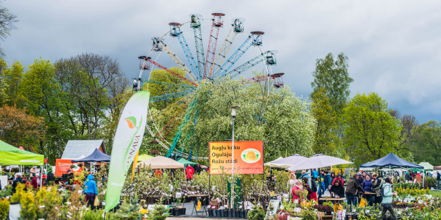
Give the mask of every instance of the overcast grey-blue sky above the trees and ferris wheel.
[[(316, 58), (332, 52), (349, 56), (354, 79), (351, 96), (375, 91), (402, 114), (420, 123), (441, 116), (441, 1), (132, 1), (132, 0), (7, 0), (3, 5), (20, 20), (6, 41), (7, 61), (30, 65), (34, 59), (52, 62), (83, 52), (117, 58), (129, 78), (139, 75), (138, 56), (152, 47), (152, 36), (162, 36), (170, 22), (189, 21), (189, 14), (211, 19), (226, 14), (218, 47), (231, 20), (245, 18), (245, 32), (262, 31), (263, 50), (278, 50), (273, 72), (298, 96), (311, 92)], [(203, 21), (207, 50), (210, 20)], [(189, 25), (182, 28), (194, 52)], [(236, 37), (232, 54), (247, 36)], [(170, 48), (187, 63), (174, 39)], [(176, 65), (163, 53), (158, 63)], [(237, 65), (257, 56), (251, 47)], [(263, 66), (256, 67), (262, 70)], [(143, 78), (147, 76), (143, 75)]]

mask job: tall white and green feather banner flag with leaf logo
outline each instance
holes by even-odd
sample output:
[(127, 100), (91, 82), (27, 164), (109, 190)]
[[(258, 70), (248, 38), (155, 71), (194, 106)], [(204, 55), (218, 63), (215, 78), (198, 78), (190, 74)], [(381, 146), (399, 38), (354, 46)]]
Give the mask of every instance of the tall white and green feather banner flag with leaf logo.
[(116, 127), (105, 195), (106, 211), (118, 205), (127, 171), (143, 141), (149, 98), (149, 91), (134, 94), (125, 105)]

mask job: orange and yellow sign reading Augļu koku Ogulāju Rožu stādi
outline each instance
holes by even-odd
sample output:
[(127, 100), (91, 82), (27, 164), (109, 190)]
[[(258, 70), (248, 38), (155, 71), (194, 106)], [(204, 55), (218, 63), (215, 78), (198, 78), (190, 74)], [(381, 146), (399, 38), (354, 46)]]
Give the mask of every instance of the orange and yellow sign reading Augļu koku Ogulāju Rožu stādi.
[[(209, 142), (209, 174), (232, 174), (232, 142)], [(263, 140), (234, 142), (234, 173), (263, 174)]]

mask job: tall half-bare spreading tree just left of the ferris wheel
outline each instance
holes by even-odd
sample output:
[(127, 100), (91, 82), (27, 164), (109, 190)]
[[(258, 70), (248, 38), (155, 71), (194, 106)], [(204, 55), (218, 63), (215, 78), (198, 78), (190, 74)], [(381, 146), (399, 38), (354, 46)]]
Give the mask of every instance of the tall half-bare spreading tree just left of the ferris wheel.
[[(121, 66), (116, 59), (98, 54), (80, 54), (57, 61), (56, 74), (63, 89), (79, 113), (81, 135), (87, 131), (87, 139), (94, 140), (105, 110), (110, 106), (109, 91), (123, 80)], [(71, 118), (72, 117), (71, 115)], [(74, 120), (71, 120), (74, 124)], [(77, 131), (78, 132), (78, 131)]]

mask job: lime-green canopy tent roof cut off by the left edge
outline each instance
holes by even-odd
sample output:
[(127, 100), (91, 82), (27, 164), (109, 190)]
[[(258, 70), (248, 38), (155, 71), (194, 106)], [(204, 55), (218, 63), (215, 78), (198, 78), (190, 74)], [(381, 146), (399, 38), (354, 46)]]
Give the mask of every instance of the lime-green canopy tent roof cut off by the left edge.
[(0, 166), (43, 165), (44, 155), (21, 150), (0, 140)]

